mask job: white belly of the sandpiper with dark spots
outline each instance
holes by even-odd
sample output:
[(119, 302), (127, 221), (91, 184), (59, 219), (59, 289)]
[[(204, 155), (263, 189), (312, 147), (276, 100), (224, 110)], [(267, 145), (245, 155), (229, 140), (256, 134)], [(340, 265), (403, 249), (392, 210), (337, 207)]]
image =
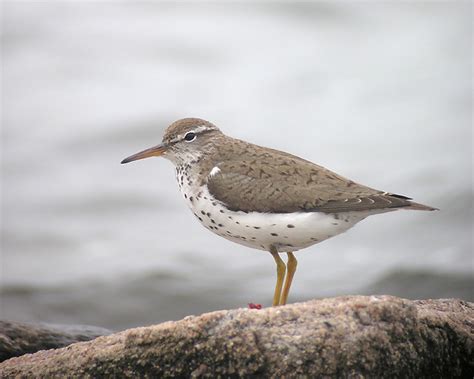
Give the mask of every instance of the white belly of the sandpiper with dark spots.
[(207, 187), (194, 190), (180, 185), (181, 192), (198, 220), (212, 232), (254, 249), (279, 252), (304, 249), (345, 232), (374, 212), (257, 213), (233, 212), (213, 199)]

